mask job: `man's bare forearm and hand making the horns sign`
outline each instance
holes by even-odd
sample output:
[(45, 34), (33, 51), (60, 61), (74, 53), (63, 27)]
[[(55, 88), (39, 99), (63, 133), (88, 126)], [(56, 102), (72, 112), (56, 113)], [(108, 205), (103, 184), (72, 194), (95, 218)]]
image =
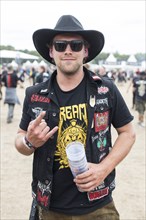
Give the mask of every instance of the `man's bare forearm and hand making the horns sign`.
[(31, 155), (34, 152), (34, 149), (28, 149), (23, 143), (25, 136), (35, 148), (39, 148), (58, 130), (57, 126), (50, 130), (50, 127), (47, 126), (43, 119), (44, 115), (45, 112), (41, 112), (35, 120), (31, 121), (27, 132), (22, 129), (18, 130), (15, 147), (21, 154)]

